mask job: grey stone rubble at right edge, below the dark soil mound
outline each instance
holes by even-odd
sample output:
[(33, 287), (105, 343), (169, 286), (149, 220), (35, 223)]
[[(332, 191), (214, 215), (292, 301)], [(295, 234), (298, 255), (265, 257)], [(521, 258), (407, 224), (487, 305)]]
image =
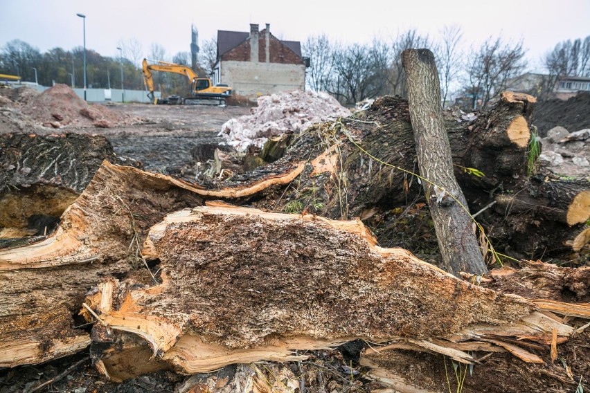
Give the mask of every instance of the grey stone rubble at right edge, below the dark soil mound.
[(539, 160), (551, 165), (555, 174), (576, 176), (590, 171), (590, 129), (570, 133), (564, 127), (553, 127), (541, 143)]

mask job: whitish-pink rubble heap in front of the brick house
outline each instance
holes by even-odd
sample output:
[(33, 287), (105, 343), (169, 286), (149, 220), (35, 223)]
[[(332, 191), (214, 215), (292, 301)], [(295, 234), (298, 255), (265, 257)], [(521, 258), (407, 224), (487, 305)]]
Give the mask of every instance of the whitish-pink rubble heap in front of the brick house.
[(219, 136), (244, 152), (250, 145), (262, 148), (271, 136), (300, 133), (317, 122), (348, 116), (350, 111), (328, 93), (296, 90), (263, 95), (250, 115), (225, 122)]

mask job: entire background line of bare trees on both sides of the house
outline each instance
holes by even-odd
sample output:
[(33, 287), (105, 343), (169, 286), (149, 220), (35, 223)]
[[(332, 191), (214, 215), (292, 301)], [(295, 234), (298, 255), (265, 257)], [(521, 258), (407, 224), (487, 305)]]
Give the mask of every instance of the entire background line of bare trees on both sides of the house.
[[(87, 86), (98, 89), (123, 86), (143, 89), (141, 60), (143, 57), (190, 65), (190, 53), (168, 56), (166, 49), (152, 44), (143, 51), (136, 39), (119, 42), (119, 56), (103, 57), (87, 49)], [(217, 42), (208, 39), (199, 54), (199, 75), (208, 75), (216, 62)], [(303, 55), (311, 58), (306, 70), (307, 88), (326, 91), (343, 104), (354, 104), (379, 95), (406, 96), (407, 86), (401, 53), (406, 48), (429, 48), (436, 55), (440, 75), (442, 101), (445, 106), (461, 98), (467, 108), (486, 108), (499, 93), (510, 87), (515, 78), (528, 71), (524, 43), (509, 42), (502, 37), (489, 37), (485, 42), (465, 49), (463, 32), (457, 26), (445, 26), (436, 39), (406, 30), (389, 39), (375, 37), (369, 45), (340, 44), (327, 35), (308, 37), (302, 43)], [(0, 73), (19, 75), (22, 80), (51, 86), (64, 83), (83, 86), (83, 48), (64, 51), (53, 48), (41, 53), (26, 42), (15, 39), (0, 48)], [(544, 76), (531, 91), (549, 98), (559, 77), (590, 77), (590, 36), (560, 42), (542, 59)], [(164, 95), (187, 95), (186, 77), (170, 73), (154, 74), (157, 90)]]

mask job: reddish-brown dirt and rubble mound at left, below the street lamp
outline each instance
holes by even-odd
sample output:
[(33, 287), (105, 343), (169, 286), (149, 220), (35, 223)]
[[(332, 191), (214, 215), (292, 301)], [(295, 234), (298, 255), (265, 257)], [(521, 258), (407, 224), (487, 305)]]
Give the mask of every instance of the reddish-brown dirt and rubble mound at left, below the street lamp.
[(88, 104), (65, 84), (43, 93), (28, 87), (3, 91), (0, 100), (6, 131), (24, 130), (30, 123), (52, 129), (62, 127), (111, 128), (141, 122), (140, 118), (113, 111), (100, 104)]

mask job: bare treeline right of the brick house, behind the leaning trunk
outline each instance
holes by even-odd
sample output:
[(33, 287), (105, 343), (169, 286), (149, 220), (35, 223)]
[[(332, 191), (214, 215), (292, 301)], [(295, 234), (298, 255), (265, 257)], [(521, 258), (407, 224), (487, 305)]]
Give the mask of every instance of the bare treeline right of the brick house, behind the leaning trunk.
[[(342, 45), (331, 42), (327, 35), (309, 37), (303, 43), (304, 55), (312, 59), (307, 84), (348, 104), (386, 94), (406, 96), (401, 63), (406, 48), (429, 48), (435, 54), (445, 105), (454, 101), (451, 98), (462, 98), (465, 107), (488, 107), (515, 78), (528, 71), (522, 41), (489, 37), (465, 50), (461, 28), (445, 26), (437, 39), (407, 30), (393, 39), (375, 38), (368, 46)], [(526, 93), (548, 98), (558, 77), (589, 77), (589, 59), (590, 36), (560, 42), (544, 55), (544, 76)]]

